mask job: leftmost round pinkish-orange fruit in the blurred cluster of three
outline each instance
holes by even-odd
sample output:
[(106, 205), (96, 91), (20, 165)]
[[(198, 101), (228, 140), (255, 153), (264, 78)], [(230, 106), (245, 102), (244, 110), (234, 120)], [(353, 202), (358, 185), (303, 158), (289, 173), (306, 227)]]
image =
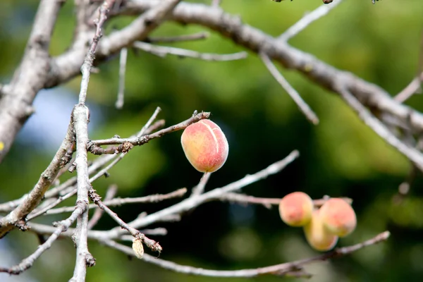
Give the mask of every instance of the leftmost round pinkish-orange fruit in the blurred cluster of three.
[(312, 218), (313, 200), (305, 192), (292, 192), (279, 203), (279, 215), (289, 226), (305, 226)]

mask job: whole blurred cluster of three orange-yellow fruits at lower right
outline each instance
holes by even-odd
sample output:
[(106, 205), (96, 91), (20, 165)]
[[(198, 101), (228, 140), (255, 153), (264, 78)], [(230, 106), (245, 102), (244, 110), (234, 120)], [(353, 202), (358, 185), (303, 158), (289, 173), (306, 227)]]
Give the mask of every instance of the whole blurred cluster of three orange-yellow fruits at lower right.
[(353, 207), (340, 198), (330, 198), (316, 209), (304, 192), (292, 192), (279, 203), (279, 214), (289, 226), (303, 226), (305, 238), (314, 250), (335, 247), (338, 238), (352, 233), (357, 225)]

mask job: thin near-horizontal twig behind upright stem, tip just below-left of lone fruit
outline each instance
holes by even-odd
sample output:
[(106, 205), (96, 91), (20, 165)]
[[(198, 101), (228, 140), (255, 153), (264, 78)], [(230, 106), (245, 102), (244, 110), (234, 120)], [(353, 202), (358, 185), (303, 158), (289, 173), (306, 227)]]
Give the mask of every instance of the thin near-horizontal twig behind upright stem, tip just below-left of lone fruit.
[[(145, 203), (157, 203), (168, 199), (173, 199), (176, 197), (183, 197), (187, 192), (186, 188), (181, 188), (176, 191), (170, 192), (168, 194), (156, 194), (148, 195), (145, 197), (134, 197), (134, 198), (114, 198), (110, 200), (104, 200), (104, 204), (108, 207), (118, 207), (124, 204), (145, 204)], [(88, 209), (94, 209), (97, 207), (97, 204), (88, 205)], [(48, 209), (46, 214), (63, 214), (64, 212), (73, 212), (75, 207), (59, 207), (57, 209)]]

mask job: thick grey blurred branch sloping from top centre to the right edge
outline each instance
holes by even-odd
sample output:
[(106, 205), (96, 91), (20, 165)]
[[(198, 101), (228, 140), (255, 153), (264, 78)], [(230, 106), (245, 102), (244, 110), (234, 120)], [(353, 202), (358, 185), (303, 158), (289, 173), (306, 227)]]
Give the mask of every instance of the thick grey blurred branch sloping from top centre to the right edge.
[[(137, 15), (157, 3), (159, 1), (130, 0), (119, 11), (119, 14)], [(300, 71), (317, 85), (333, 92), (338, 93), (338, 81), (342, 80), (343, 86), (364, 106), (377, 109), (390, 116), (404, 128), (411, 126), (413, 132), (423, 130), (423, 115), (394, 101), (391, 95), (381, 87), (357, 78), (352, 73), (339, 71), (310, 54), (290, 47), (286, 42), (281, 42), (255, 27), (243, 24), (240, 18), (231, 16), (221, 9), (183, 2), (173, 10), (171, 20), (183, 24), (194, 23), (209, 27), (251, 51), (264, 52), (270, 59), (278, 61), (286, 68)]]

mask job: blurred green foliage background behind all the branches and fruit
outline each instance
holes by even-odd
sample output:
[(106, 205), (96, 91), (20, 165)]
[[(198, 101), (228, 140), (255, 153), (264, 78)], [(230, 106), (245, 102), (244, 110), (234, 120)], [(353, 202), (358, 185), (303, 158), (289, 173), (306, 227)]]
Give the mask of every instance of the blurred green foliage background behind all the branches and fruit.
[[(38, 1), (0, 3), (0, 78), (7, 82), (23, 54)], [(209, 1), (190, 1), (203, 2)], [(223, 1), (223, 9), (243, 21), (277, 36), (317, 6), (318, 0), (276, 3), (269, 0)], [(415, 75), (423, 26), (421, 0), (344, 1), (329, 16), (321, 18), (290, 41), (294, 47), (396, 94)], [(121, 28), (131, 18), (113, 20), (107, 30)], [(73, 35), (73, 1), (67, 1), (51, 44), (51, 54), (61, 54)], [(154, 35), (183, 35), (203, 27), (165, 23)], [(233, 42), (212, 32), (200, 42), (172, 44), (197, 51), (241, 51)], [(211, 111), (212, 120), (228, 137), (230, 154), (225, 166), (212, 175), (207, 189), (220, 187), (282, 159), (293, 149), (301, 157), (277, 176), (245, 188), (262, 197), (283, 197), (301, 190), (314, 198), (323, 195), (352, 197), (357, 212), (357, 230), (338, 245), (366, 240), (388, 229), (387, 243), (368, 247), (348, 257), (314, 264), (306, 270), (311, 281), (421, 281), (423, 276), (423, 197), (418, 174), (410, 194), (398, 198), (398, 185), (407, 177), (410, 164), (396, 150), (369, 130), (335, 94), (322, 90), (302, 75), (281, 70), (317, 112), (320, 124), (311, 125), (271, 77), (255, 54), (233, 62), (205, 62), (129, 52), (125, 106), (114, 109), (118, 88), (118, 58), (99, 66), (92, 75), (88, 99), (103, 111), (102, 125), (90, 137), (128, 136), (139, 130), (156, 106), (160, 118), (171, 125), (188, 118), (194, 110)], [(77, 95), (80, 78), (65, 87)], [(407, 104), (423, 109), (420, 95)], [(47, 109), (48, 110), (48, 109)], [(69, 112), (69, 114), (71, 114)], [(94, 117), (93, 117), (94, 118)], [(55, 130), (51, 128), (51, 130)], [(133, 149), (114, 167), (111, 177), (94, 188), (104, 195), (107, 185), (117, 183), (120, 197), (165, 193), (192, 188), (201, 174), (190, 166), (180, 147), (180, 132)], [(0, 166), (0, 196), (12, 200), (32, 188), (54, 152), (15, 145)], [(72, 200), (73, 201), (73, 200)], [(73, 204), (73, 202), (66, 204)], [(131, 220), (176, 202), (120, 207), (116, 212)], [(43, 219), (45, 223), (60, 217)], [(97, 228), (114, 223), (106, 216)], [(164, 247), (161, 258), (180, 264), (211, 269), (255, 268), (316, 255), (305, 243), (301, 229), (288, 228), (277, 209), (241, 207), (212, 202), (198, 207), (168, 228), (164, 238), (154, 238)], [(32, 233), (13, 231), (8, 244), (18, 257), (37, 247)], [(90, 243), (97, 266), (87, 271), (87, 281), (215, 281), (175, 274), (107, 247)], [(66, 281), (73, 271), (75, 251), (71, 240), (60, 240), (18, 281)], [(0, 274), (0, 280), (8, 279)], [(22, 279), (22, 280), (19, 280)], [(221, 281), (245, 281), (223, 278)], [(250, 281), (296, 281), (295, 278), (259, 277)]]

